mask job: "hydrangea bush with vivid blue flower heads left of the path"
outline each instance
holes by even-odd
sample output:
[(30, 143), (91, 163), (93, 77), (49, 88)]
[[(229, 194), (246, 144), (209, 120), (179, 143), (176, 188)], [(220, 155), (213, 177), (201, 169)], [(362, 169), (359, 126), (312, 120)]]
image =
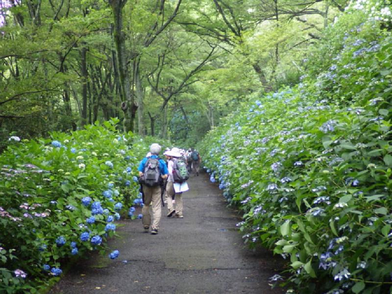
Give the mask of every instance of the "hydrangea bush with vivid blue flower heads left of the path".
[(106, 254), (113, 222), (140, 199), (133, 178), (152, 142), (119, 133), (116, 123), (10, 140), (0, 155), (1, 293), (35, 293), (69, 258)]

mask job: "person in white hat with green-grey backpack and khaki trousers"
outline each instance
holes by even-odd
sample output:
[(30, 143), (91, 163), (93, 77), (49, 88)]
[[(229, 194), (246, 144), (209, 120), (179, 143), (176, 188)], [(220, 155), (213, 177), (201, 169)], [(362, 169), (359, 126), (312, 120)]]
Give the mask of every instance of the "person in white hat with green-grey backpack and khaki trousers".
[[(184, 184), (184, 182), (189, 178), (189, 173), (186, 169), (186, 162), (181, 159), (180, 150), (176, 147), (172, 148), (172, 150), (165, 152), (165, 155), (168, 156), (168, 184), (166, 186), (166, 195), (168, 202), (168, 214), (167, 217), (174, 216), (175, 218), (183, 218), (183, 199), (182, 192), (176, 193), (174, 190), (174, 185)], [(186, 182), (185, 182), (186, 184)], [(174, 204), (173, 205), (172, 196), (174, 196)]]

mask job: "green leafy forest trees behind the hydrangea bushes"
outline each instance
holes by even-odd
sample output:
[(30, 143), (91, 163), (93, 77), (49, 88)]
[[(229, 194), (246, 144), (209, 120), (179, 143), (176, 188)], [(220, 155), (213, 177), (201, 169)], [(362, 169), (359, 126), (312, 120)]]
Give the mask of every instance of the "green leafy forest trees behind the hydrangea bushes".
[(240, 102), (296, 84), (346, 4), (1, 0), (0, 149), (111, 117), (192, 146)]

